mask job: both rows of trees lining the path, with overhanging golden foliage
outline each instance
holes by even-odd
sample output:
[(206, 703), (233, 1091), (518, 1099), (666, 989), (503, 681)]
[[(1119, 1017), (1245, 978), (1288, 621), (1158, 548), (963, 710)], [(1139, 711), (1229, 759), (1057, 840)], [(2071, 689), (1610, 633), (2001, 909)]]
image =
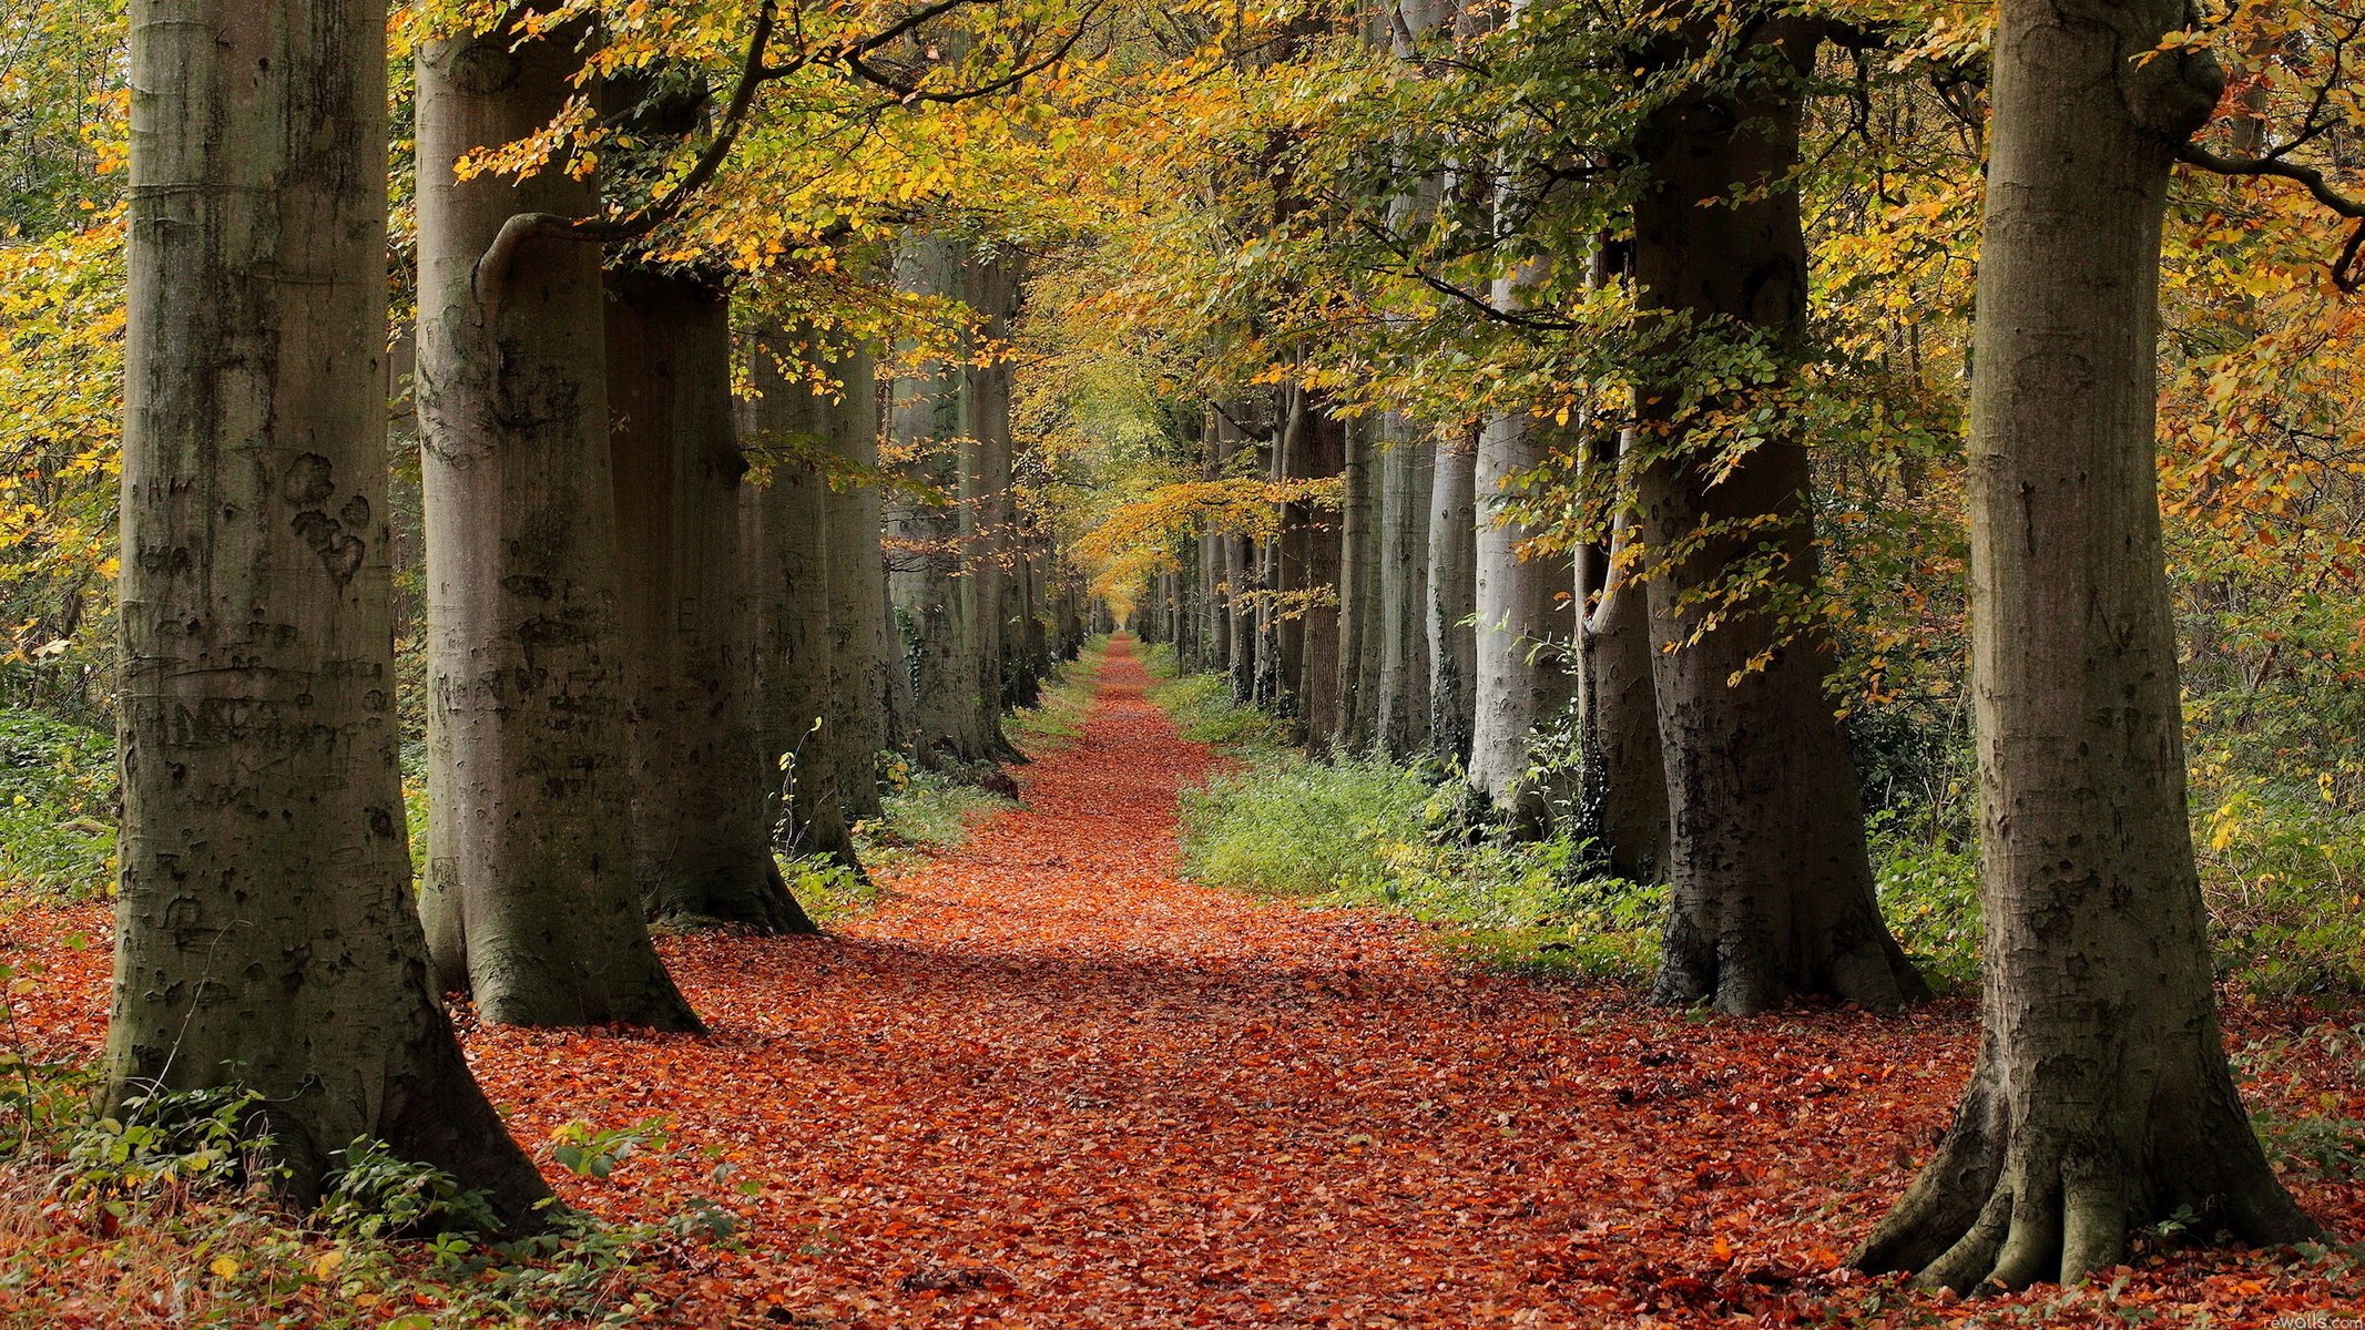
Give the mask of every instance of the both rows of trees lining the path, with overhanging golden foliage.
[[(1575, 808), (1670, 884), (1667, 1002), (1911, 1002), (1816, 506), (1835, 444), (1942, 430), (1833, 371), (1809, 232), (1864, 198), (1809, 213), (1807, 144), (1984, 97), (1987, 1044), (1859, 1261), (2313, 1233), (2216, 1037), (2150, 456), (2173, 161), (2348, 208), (2299, 165), (2339, 99), (2192, 146), (2221, 78), (2155, 0), (2008, 0), (1991, 54), (1904, 7), (414, 12), (414, 900), (385, 12), (132, 9), (116, 1101), (246, 1084), (298, 1193), (376, 1136), (530, 1217), (440, 992), (693, 1030), (648, 919), (802, 926), (773, 848), (849, 860), (882, 747), (1007, 758), (1093, 595), (1317, 751)], [(1149, 435), (1190, 475), (1138, 484)]]

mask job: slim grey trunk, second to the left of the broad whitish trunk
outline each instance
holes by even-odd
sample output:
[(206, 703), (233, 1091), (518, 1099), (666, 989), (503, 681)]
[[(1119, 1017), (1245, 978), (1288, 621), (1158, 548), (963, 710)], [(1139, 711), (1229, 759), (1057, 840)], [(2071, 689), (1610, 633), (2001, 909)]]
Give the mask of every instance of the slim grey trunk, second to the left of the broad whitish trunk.
[(1379, 704), (1374, 739), (1391, 758), (1428, 749), (1428, 491), (1436, 444), (1400, 416), (1384, 416), (1379, 480)]

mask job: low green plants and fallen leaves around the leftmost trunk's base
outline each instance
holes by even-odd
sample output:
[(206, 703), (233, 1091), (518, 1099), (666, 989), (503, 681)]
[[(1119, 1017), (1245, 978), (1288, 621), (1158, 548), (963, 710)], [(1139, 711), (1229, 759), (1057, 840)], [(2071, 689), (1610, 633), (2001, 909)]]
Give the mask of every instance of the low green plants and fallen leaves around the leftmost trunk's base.
[[(322, 1205), (296, 1212), (274, 1200), (248, 1094), (156, 1094), (95, 1117), (88, 1073), (12, 1075), (24, 1094), (0, 1113), (12, 1325), (636, 1325), (665, 1302), (653, 1271), (731, 1240), (728, 1212), (705, 1200), (653, 1224), (551, 1210), (539, 1233), (497, 1236), (480, 1193), (374, 1141), (338, 1150)], [(570, 1122), (537, 1155), (608, 1176), (662, 1148), (662, 1122)]]

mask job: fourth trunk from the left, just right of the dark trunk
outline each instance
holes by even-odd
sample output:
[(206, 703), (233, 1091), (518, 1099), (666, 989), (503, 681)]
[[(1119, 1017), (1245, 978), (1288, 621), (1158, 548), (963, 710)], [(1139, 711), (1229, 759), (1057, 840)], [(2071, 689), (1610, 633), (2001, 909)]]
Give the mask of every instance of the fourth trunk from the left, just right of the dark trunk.
[(754, 392), (740, 406), (745, 437), (750, 451), (769, 461), (766, 484), (750, 496), (747, 527), (771, 843), (861, 872), (837, 770), (844, 749), (830, 735), (837, 678), (830, 565), (837, 550), (830, 548), (825, 463), (835, 411), (825, 392), (804, 378), (804, 347), (792, 335), (750, 335), (745, 352)]

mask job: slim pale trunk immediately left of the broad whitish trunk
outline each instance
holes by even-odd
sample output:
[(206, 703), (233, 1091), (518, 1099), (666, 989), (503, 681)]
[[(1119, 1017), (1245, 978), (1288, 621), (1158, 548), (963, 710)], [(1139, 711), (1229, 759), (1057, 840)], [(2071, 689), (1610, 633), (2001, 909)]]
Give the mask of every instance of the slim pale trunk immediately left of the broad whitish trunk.
[(1438, 435), (1426, 581), (1428, 749), (1464, 765), (1478, 721), (1478, 439), (1459, 430)]

